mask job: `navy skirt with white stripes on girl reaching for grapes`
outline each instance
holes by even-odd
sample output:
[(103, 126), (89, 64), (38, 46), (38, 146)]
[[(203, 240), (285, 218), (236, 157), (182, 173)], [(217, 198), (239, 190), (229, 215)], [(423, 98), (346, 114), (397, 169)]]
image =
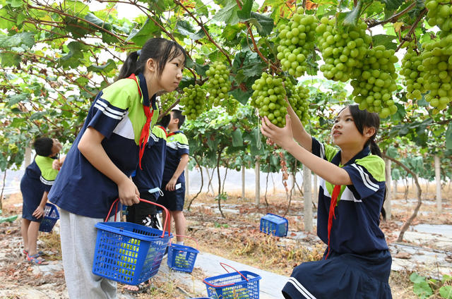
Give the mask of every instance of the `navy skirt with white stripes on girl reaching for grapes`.
[(388, 250), (367, 255), (330, 252), (327, 260), (295, 267), (283, 295), (286, 299), (390, 299), (391, 263)]

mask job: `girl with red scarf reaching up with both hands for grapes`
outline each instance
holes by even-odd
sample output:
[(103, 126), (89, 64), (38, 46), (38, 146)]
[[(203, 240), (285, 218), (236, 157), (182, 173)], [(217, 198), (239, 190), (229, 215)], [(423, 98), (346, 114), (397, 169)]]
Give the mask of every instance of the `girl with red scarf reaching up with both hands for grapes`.
[(342, 109), (331, 128), (337, 150), (311, 138), (292, 107), (287, 111), (284, 128), (264, 117), (261, 132), (321, 177), (317, 235), (328, 248), (322, 260), (295, 267), (284, 297), (392, 298), (391, 254), (379, 228), (386, 187), (378, 114)]

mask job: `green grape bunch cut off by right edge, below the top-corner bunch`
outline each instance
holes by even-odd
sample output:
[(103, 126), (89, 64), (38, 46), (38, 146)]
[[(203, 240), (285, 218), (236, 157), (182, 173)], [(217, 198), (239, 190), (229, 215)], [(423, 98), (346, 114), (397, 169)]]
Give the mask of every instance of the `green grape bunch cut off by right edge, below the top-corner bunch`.
[(448, 50), (452, 35), (449, 37), (426, 44), (421, 54), (424, 87), (430, 91), (425, 99), (434, 107), (434, 114), (446, 109), (452, 101), (452, 55)]

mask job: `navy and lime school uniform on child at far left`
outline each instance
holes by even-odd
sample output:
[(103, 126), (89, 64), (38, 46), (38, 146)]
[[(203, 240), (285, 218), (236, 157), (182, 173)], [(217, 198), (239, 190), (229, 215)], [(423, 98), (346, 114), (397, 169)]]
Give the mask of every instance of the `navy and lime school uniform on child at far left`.
[(40, 205), (44, 192), (49, 192), (54, 184), (58, 171), (52, 169), (54, 158), (36, 155), (32, 164), (28, 165), (20, 180), (20, 192), (22, 193), (23, 206), (22, 218), (30, 221), (40, 222), (32, 216), (35, 209)]

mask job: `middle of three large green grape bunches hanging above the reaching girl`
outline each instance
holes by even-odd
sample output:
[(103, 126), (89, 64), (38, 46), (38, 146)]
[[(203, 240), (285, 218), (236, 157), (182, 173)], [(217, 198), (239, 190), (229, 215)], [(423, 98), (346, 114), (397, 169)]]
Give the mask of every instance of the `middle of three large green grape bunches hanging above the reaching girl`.
[(358, 20), (356, 26), (339, 28), (335, 26), (335, 19), (327, 17), (320, 22), (316, 28), (320, 35), (317, 44), (325, 61), (320, 71), (327, 79), (347, 82), (369, 49), (371, 37), (366, 34), (367, 24)]

